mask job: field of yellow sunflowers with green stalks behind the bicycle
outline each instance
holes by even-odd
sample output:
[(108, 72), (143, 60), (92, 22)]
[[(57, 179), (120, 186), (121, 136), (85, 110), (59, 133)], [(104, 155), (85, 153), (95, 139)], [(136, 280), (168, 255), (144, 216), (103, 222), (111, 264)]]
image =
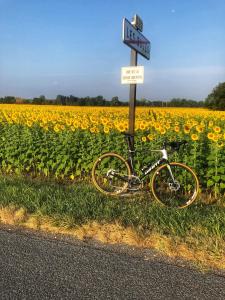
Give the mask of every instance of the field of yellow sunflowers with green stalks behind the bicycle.
[[(171, 160), (192, 167), (202, 191), (225, 192), (225, 112), (192, 108), (137, 108), (136, 167), (156, 159), (151, 149), (164, 140), (188, 141)], [(103, 152), (126, 155), (121, 132), (128, 130), (126, 107), (2, 104), (0, 168), (75, 181), (89, 179)]]

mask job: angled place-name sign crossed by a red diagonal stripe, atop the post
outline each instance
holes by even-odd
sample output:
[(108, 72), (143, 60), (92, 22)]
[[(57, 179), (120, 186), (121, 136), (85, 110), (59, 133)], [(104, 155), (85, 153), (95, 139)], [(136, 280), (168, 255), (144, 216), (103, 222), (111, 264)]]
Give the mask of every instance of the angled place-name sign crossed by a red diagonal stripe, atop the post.
[(145, 58), (150, 59), (150, 41), (126, 18), (123, 19), (123, 42)]

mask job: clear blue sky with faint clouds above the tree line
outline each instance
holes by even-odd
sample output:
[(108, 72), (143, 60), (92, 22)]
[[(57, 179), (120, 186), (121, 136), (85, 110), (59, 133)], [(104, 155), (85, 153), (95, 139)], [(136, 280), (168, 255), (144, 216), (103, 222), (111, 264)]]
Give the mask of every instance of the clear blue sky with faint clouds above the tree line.
[(204, 100), (225, 81), (224, 0), (0, 0), (0, 96), (128, 100), (122, 19), (151, 41), (137, 97)]

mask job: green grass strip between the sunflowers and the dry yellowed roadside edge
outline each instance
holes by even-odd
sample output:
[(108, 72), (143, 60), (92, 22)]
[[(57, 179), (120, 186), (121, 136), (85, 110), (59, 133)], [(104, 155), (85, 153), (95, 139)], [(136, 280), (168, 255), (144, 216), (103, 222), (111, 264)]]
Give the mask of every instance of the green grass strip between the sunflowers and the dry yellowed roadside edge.
[(208, 237), (225, 240), (225, 207), (218, 204), (197, 202), (183, 210), (168, 209), (147, 193), (110, 198), (86, 183), (66, 185), (22, 177), (0, 177), (0, 190), (2, 207), (23, 207), (28, 213), (53, 217), (58, 225), (65, 220), (68, 226), (116, 221), (143, 235), (156, 231), (184, 241), (198, 238), (199, 243)]

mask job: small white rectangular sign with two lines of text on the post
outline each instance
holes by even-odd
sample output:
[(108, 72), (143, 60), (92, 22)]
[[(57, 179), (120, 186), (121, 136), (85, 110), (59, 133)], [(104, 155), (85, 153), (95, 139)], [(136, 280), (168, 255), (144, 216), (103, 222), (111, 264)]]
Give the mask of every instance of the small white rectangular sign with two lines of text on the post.
[(144, 67), (123, 67), (121, 68), (122, 84), (144, 83)]

